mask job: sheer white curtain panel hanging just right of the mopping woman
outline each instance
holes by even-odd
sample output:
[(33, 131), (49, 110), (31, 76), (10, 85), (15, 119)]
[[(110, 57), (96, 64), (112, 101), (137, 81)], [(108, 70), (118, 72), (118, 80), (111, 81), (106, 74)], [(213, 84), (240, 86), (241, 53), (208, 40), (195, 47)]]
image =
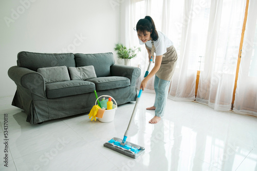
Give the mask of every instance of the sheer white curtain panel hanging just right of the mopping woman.
[[(174, 73), (169, 98), (174, 100), (194, 100), (196, 73), (199, 69), (198, 57), (203, 56), (201, 43), (202, 34), (205, 28), (205, 10), (208, 4), (198, 0), (184, 1), (180, 15), (182, 17), (175, 22), (180, 36), (178, 46), (175, 46), (179, 52), (177, 68)], [(176, 8), (176, 7), (174, 7)], [(179, 12), (179, 11), (178, 11)], [(172, 14), (176, 15), (176, 14)]]

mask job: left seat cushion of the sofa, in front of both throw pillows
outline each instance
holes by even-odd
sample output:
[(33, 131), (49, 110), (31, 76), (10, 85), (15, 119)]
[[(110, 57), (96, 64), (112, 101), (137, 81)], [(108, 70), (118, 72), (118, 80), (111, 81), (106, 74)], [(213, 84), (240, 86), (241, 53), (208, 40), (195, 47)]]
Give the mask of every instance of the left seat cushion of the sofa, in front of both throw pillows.
[(46, 84), (49, 99), (94, 92), (95, 84), (89, 81), (70, 80)]

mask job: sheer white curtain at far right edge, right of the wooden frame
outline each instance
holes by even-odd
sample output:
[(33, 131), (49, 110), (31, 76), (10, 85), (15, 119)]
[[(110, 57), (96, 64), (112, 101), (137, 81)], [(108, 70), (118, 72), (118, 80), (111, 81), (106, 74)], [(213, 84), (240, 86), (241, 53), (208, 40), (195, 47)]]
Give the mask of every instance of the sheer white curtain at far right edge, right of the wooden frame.
[(257, 1), (249, 1), (248, 17), (234, 111), (257, 116)]

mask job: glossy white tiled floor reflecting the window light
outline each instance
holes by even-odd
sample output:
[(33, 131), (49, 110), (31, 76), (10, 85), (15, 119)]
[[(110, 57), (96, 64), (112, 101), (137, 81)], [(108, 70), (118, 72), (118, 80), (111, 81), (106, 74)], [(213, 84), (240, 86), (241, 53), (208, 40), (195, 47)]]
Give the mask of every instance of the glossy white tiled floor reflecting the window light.
[(135, 102), (119, 105), (109, 123), (77, 115), (31, 125), (26, 114), (0, 98), (0, 137), (8, 114), (8, 168), (4, 142), (0, 170), (257, 170), (257, 118), (219, 112), (196, 102), (168, 99), (166, 113), (149, 124), (145, 108), (154, 94), (143, 93), (127, 141), (145, 147), (137, 159), (103, 146), (123, 138)]

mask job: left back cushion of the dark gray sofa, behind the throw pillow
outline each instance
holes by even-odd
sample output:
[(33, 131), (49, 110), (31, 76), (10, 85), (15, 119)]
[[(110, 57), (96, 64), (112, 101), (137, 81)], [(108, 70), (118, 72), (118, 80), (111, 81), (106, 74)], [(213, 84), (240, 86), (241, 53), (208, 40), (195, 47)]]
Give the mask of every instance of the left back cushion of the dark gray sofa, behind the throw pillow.
[(17, 66), (33, 71), (46, 67), (75, 67), (75, 56), (73, 53), (34, 53), (22, 51), (17, 55)]

